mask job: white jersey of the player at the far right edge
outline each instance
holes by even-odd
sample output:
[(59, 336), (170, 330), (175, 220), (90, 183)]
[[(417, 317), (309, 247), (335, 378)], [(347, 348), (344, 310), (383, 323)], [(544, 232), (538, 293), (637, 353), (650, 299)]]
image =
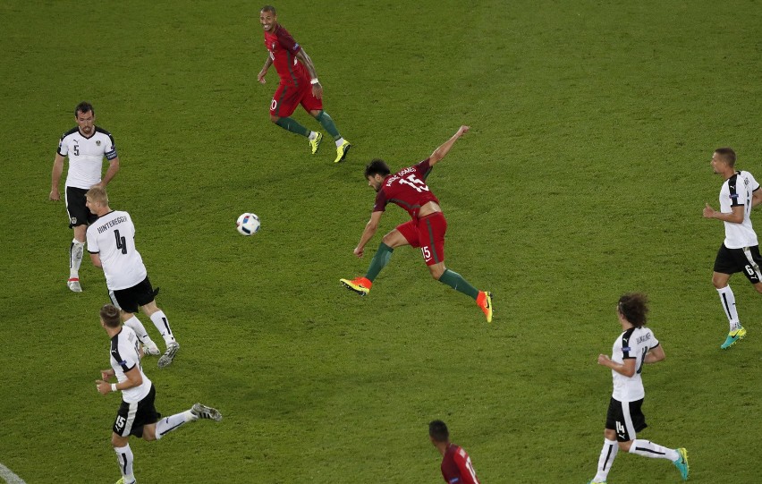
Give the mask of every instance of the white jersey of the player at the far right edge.
[(758, 245), (757, 234), (751, 227), (751, 192), (759, 190), (759, 183), (749, 172), (735, 172), (725, 180), (720, 190), (720, 211), (724, 214), (732, 212), (733, 207), (743, 206), (743, 222), (733, 224), (724, 222), (725, 247), (728, 249), (742, 249)]

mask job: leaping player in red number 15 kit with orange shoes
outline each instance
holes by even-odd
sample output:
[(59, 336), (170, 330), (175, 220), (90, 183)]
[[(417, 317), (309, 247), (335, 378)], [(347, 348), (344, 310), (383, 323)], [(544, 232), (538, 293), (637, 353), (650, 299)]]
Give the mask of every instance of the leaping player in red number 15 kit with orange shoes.
[(366, 295), (370, 292), (373, 280), (392, 257), (392, 251), (402, 245), (411, 245), (420, 248), (432, 277), (472, 297), (477, 301), (478, 307), (484, 311), (487, 322), (492, 322), (492, 293), (478, 291), (460, 274), (445, 267), (447, 221), (442, 214), (442, 208), (439, 207), (439, 200), (425, 182), (431, 168), (447, 155), (455, 141), (469, 129), (469, 126), (461, 126), (458, 132), (445, 141), (445, 144), (435, 149), (430, 157), (394, 175), (381, 159), (374, 159), (366, 166), (365, 178), (368, 179), (368, 186), (377, 192), (376, 204), (360, 236), (360, 243), (354, 249), (354, 254), (362, 257), (365, 244), (376, 234), (378, 222), (384, 214), (386, 204), (390, 201), (407, 210), (412, 220), (398, 225), (392, 232), (384, 235), (376, 255), (370, 261), (368, 273), (364, 277), (352, 280), (341, 279), (342, 284), (348, 289), (361, 296)]

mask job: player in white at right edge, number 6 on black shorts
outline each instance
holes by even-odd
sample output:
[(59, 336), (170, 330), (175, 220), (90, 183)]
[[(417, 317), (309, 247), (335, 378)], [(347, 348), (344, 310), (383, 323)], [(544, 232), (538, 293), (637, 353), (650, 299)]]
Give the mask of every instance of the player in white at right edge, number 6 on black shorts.
[(762, 293), (762, 257), (759, 255), (757, 234), (751, 227), (751, 208), (762, 202), (759, 183), (749, 172), (735, 169), (735, 151), (730, 148), (715, 149), (712, 169), (724, 178), (720, 189), (720, 210), (704, 207), (704, 217), (722, 220), (725, 225), (725, 240), (715, 258), (712, 284), (720, 295), (725, 316), (730, 324), (725, 341), (720, 348), (727, 349), (746, 336), (746, 328), (741, 325), (735, 307), (735, 295), (728, 282), (732, 274), (742, 272), (758, 293)]

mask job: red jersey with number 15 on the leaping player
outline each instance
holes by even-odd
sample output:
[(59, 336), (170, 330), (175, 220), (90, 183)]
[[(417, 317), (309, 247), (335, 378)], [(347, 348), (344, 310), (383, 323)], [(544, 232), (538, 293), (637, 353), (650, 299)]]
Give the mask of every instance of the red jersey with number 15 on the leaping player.
[(407, 210), (413, 220), (417, 219), (419, 209), (429, 201), (439, 203), (425, 182), (430, 172), (431, 165), (426, 158), (414, 166), (387, 176), (376, 195), (373, 211), (383, 212), (386, 204), (392, 202)]

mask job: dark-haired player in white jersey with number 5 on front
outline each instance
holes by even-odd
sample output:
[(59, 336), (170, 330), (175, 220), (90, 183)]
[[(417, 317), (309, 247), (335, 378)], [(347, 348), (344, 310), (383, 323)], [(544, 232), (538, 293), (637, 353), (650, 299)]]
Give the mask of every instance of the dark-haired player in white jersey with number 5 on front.
[[(111, 133), (97, 127), (95, 110), (86, 102), (74, 108), (77, 127), (64, 132), (58, 142), (58, 151), (53, 161), (50, 200), (61, 200), (58, 182), (63, 174), (63, 158), (69, 157), (69, 171), (66, 174), (66, 211), (69, 214), (69, 228), (74, 229), (74, 239), (69, 247), (69, 280), (66, 284), (74, 293), (80, 293), (80, 264), (85, 246), (85, 230), (96, 217), (85, 206), (85, 192), (91, 187), (105, 187), (119, 171), (119, 156)], [(108, 160), (106, 175), (101, 179), (103, 158)]]

